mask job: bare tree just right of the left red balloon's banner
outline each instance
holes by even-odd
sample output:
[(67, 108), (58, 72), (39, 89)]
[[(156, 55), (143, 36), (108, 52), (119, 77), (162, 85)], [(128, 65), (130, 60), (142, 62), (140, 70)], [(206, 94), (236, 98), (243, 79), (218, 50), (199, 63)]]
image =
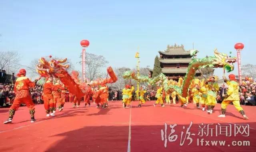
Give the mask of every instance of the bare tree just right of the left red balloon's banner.
[[(80, 55), (82, 58), (82, 55)], [(79, 62), (82, 64), (82, 62)], [(104, 67), (108, 61), (102, 55), (94, 55), (92, 53), (86, 53), (85, 64), (86, 64), (86, 77), (91, 81), (96, 78), (103, 78), (106, 76), (106, 72), (103, 72)]]

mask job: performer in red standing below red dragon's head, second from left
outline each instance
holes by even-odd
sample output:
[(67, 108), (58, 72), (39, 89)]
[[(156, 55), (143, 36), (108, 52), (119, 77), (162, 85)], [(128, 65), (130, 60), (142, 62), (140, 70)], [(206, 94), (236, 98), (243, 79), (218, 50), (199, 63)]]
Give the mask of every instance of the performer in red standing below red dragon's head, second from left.
[(58, 87), (52, 84), (52, 77), (50, 76), (48, 77), (48, 80), (46, 79), (46, 83), (44, 84), (44, 90), (43, 90), (43, 100), (44, 100), (44, 109), (46, 111), (46, 117), (49, 117), (50, 115), (55, 116), (55, 114), (53, 113), (54, 102), (53, 102), (52, 91), (61, 92), (61, 90)]

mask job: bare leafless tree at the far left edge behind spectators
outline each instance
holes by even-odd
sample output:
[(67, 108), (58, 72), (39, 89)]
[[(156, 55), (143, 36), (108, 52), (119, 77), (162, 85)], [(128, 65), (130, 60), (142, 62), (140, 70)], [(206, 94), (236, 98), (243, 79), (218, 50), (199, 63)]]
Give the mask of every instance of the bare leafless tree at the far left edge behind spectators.
[(20, 55), (14, 51), (0, 52), (0, 69), (6, 70), (7, 74), (18, 70)]

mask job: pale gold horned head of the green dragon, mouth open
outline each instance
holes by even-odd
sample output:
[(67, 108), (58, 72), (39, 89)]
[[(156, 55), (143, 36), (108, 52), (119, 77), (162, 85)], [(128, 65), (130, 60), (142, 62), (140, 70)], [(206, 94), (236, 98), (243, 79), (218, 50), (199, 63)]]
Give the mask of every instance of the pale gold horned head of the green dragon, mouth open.
[(214, 68), (221, 68), (224, 67), (227, 72), (234, 70), (234, 62), (236, 62), (236, 57), (228, 57), (228, 55), (224, 53), (219, 53), (217, 49), (214, 49), (214, 56), (213, 58), (213, 66)]

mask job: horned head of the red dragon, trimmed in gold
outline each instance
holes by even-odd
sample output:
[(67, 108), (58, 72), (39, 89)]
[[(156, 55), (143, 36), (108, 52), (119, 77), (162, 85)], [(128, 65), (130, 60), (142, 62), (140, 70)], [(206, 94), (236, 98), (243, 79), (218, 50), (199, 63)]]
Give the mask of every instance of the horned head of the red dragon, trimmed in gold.
[(67, 58), (64, 60), (52, 59), (50, 62), (48, 62), (45, 58), (42, 57), (38, 60), (36, 71), (43, 77), (64, 77), (66, 69), (69, 68), (69, 65), (62, 65), (60, 63), (64, 63), (66, 60)]

